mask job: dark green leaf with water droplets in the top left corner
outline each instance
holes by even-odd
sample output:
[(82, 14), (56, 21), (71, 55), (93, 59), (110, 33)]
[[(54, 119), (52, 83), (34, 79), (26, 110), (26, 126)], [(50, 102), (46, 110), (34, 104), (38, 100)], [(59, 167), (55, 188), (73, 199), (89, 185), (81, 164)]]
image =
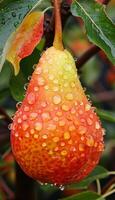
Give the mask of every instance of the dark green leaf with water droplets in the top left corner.
[(8, 37), (19, 26), (25, 15), (31, 9), (43, 11), (49, 6), (51, 6), (50, 0), (2, 0), (0, 2), (0, 55)]

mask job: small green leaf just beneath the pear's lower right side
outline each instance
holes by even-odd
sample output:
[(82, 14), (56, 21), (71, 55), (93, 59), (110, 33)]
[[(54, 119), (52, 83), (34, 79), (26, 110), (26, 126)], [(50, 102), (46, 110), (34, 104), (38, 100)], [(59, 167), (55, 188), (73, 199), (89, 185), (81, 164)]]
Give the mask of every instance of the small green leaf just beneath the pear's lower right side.
[(102, 166), (97, 166), (93, 172), (87, 177), (85, 178), (83, 181), (81, 181), (80, 183), (75, 183), (75, 184), (71, 184), (68, 185), (68, 188), (78, 188), (78, 189), (86, 189), (90, 183), (92, 183), (93, 181), (95, 181), (96, 179), (102, 179), (107, 177), (108, 171), (102, 167)]

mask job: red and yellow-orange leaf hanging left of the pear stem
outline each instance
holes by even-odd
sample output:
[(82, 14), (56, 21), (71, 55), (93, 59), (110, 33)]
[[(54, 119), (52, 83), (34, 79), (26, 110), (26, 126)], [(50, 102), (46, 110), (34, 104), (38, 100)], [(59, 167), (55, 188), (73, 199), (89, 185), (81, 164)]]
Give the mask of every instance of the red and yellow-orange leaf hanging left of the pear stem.
[(21, 59), (30, 55), (42, 38), (43, 22), (44, 13), (40, 11), (34, 11), (24, 18), (21, 25), (6, 42), (1, 67), (7, 59), (12, 63), (15, 75), (18, 74)]

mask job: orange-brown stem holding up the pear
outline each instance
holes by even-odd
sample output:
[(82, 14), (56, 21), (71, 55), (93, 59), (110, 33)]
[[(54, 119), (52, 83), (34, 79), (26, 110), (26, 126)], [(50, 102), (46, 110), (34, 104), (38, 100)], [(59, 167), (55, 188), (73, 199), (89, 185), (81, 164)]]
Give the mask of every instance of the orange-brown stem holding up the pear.
[(62, 44), (62, 23), (61, 23), (61, 15), (60, 15), (60, 5), (61, 0), (54, 0), (54, 12), (55, 12), (55, 37), (53, 46), (56, 49), (63, 50)]

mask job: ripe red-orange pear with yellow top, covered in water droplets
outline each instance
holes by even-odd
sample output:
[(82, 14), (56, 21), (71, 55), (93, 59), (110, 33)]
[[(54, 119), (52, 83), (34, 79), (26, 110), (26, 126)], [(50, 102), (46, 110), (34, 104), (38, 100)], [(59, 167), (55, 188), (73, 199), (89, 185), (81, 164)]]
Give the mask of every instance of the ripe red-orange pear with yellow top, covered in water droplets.
[(72, 55), (48, 48), (13, 119), (11, 146), (16, 161), (42, 183), (78, 182), (99, 162), (103, 134)]

